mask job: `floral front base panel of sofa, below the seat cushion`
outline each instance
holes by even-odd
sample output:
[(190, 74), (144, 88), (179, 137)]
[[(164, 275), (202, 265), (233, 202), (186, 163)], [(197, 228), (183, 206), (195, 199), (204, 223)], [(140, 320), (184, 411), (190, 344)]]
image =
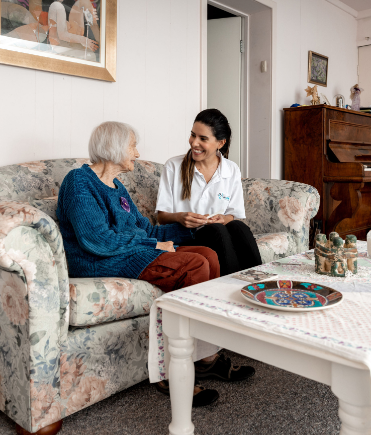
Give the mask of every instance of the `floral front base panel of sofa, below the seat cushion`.
[(70, 327), (61, 346), (61, 417), (148, 378), (149, 316)]

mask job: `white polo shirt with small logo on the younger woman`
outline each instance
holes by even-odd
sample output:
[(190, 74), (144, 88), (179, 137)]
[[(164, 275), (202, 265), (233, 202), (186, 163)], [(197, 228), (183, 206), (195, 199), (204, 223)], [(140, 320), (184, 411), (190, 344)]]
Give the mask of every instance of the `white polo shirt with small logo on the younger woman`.
[(224, 214), (232, 214), (235, 218), (244, 219), (241, 172), (238, 166), (225, 159), (219, 152), (218, 169), (206, 184), (205, 177), (195, 166), (191, 199), (181, 200), (182, 183), (180, 181), (180, 165), (184, 155), (169, 159), (163, 167), (157, 195), (157, 211), (177, 213), (191, 211), (199, 214), (213, 214), (223, 209)]

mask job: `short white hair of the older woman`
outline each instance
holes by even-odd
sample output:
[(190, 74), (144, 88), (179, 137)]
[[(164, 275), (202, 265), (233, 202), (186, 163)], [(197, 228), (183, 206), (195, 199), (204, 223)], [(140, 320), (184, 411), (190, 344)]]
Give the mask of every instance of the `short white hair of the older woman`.
[(90, 135), (90, 162), (113, 162), (118, 165), (127, 157), (131, 135), (139, 142), (139, 134), (131, 125), (116, 121), (102, 122)]

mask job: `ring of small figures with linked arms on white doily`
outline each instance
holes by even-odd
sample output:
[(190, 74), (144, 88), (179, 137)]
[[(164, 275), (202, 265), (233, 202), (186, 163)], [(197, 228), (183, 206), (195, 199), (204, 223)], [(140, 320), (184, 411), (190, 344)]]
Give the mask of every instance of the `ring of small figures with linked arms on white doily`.
[(316, 272), (321, 275), (345, 276), (348, 270), (357, 273), (357, 238), (352, 234), (346, 236), (345, 244), (335, 232), (328, 240), (325, 234), (317, 234), (314, 255)]

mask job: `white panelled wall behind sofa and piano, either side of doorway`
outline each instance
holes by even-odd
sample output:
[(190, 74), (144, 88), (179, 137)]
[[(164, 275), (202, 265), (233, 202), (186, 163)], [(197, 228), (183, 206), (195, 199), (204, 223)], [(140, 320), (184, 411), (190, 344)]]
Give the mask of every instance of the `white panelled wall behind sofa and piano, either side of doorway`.
[[(86, 157), (90, 131), (104, 120), (134, 125), (143, 159), (164, 163), (183, 154), (200, 110), (200, 1), (118, 0), (116, 83), (0, 64), (0, 166)], [(282, 109), (310, 104), (308, 50), (329, 56), (328, 87), (319, 92), (330, 102), (338, 93), (349, 102), (357, 81), (357, 26), (325, 0), (276, 3), (274, 176), (283, 178)]]

